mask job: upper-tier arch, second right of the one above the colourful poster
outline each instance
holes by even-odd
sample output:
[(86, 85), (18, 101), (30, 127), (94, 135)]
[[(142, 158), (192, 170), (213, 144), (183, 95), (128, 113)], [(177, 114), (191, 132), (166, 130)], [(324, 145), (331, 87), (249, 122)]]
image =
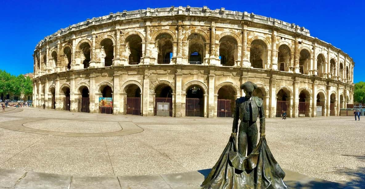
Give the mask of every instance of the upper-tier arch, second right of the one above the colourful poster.
[(168, 33), (161, 33), (156, 37), (156, 47), (158, 49), (157, 63), (169, 64), (172, 58), (173, 43), (172, 36)]

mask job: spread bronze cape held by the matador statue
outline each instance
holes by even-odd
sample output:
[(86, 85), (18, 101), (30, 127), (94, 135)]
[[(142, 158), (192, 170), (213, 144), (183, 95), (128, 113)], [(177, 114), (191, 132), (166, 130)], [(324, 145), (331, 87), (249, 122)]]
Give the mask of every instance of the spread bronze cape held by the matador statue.
[(236, 148), (230, 137), (211, 172), (201, 184), (202, 189), (287, 189), (285, 173), (274, 159), (265, 137), (247, 157)]

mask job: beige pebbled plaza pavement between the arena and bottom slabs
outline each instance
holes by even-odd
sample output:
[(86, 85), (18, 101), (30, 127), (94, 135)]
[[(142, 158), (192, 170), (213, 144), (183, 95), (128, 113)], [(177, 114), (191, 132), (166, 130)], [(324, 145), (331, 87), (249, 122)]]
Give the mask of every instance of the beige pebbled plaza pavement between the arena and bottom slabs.
[[(0, 169), (75, 178), (196, 172), (218, 160), (232, 121), (18, 108), (0, 113)], [(266, 118), (266, 140), (285, 170), (363, 186), (364, 121)]]

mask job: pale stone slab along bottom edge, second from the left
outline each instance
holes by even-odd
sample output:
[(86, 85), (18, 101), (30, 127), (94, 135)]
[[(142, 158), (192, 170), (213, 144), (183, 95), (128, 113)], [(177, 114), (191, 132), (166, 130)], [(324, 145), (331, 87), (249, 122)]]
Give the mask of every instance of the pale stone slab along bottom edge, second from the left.
[(14, 189), (69, 189), (71, 176), (28, 172)]

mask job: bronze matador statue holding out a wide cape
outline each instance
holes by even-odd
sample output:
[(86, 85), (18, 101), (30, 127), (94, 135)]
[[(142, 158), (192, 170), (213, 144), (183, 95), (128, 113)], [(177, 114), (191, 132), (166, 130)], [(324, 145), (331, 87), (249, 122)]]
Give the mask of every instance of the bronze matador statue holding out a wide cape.
[[(246, 96), (237, 98), (230, 140), (202, 189), (287, 189), (284, 171), (274, 159), (265, 139), (263, 101), (252, 96), (257, 85), (241, 85)], [(260, 117), (260, 141), (257, 144), (257, 116)], [(238, 129), (238, 119), (241, 120)], [(238, 150), (236, 147), (238, 129)], [(257, 145), (256, 145), (257, 144)], [(246, 156), (247, 148), (247, 156)]]

